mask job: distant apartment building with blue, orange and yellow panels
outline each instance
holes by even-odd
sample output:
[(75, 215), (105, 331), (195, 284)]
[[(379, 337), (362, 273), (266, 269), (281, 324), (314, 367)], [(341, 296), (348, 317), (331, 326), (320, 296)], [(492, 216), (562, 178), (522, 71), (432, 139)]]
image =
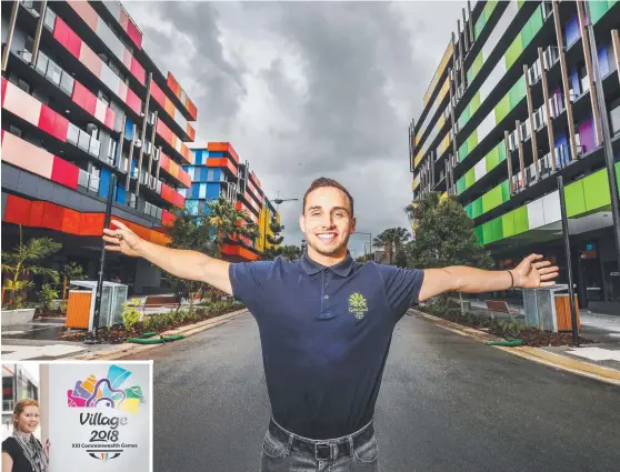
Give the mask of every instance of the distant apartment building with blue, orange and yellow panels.
[(191, 178), (191, 187), (181, 193), (186, 198), (186, 209), (190, 214), (208, 215), (209, 201), (223, 198), (234, 202), (237, 210), (243, 211), (248, 222), (259, 228), (256, 240), (241, 238), (228, 241), (222, 253), (231, 261), (254, 261), (260, 259), (271, 244), (272, 222), (280, 221), (280, 214), (267, 198), (254, 171), (248, 161), (240, 161), (229, 142), (209, 142), (207, 148), (193, 148), (193, 165), (183, 169)]

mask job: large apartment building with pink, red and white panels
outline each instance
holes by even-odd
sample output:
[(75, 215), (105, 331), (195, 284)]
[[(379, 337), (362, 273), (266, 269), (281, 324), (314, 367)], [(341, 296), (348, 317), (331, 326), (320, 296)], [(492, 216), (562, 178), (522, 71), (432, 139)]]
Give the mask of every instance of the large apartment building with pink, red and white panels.
[[(1, 20), (2, 250), (20, 229), (24, 240), (48, 235), (63, 244), (54, 269), (73, 261), (96, 279), (110, 191), (114, 218), (167, 243), (191, 185), (182, 167), (193, 163), (198, 111), (136, 22), (118, 1), (3, 2)], [(130, 292), (160, 288), (147, 261), (107, 261)]]

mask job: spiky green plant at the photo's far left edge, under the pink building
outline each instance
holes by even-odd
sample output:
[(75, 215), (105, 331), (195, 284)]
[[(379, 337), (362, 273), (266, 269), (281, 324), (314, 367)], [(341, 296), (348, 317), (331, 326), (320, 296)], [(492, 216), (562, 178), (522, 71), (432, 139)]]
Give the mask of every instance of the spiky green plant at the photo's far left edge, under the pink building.
[(41, 274), (58, 283), (58, 272), (39, 265), (39, 263), (54, 252), (60, 251), (60, 248), (62, 248), (62, 244), (51, 238), (33, 238), (23, 244), (20, 227), (19, 245), (14, 248), (13, 252), (2, 252), (2, 272), (10, 274), (2, 285), (2, 299), (4, 292), (10, 292), (9, 308), (22, 308), (28, 290), (34, 287), (31, 280), (20, 280), (21, 277), (29, 278), (33, 274)]

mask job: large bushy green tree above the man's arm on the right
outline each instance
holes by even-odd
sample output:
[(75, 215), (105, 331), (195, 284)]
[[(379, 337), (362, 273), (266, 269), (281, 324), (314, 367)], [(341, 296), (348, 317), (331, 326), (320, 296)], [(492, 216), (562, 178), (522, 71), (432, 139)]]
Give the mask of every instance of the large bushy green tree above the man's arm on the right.
[(416, 237), (409, 244), (413, 267), (492, 265), (489, 251), (476, 239), (472, 220), (453, 197), (430, 192), (417, 201), (411, 217), (416, 224)]

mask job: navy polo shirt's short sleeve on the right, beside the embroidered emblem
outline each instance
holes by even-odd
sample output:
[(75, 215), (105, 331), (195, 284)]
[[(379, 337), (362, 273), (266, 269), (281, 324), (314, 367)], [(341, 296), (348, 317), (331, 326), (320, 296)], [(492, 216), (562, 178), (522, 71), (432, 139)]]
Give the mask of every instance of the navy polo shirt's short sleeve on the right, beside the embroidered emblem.
[(400, 320), (410, 307), (418, 303), (418, 297), (424, 280), (424, 271), (383, 264), (377, 267), (383, 279), (388, 304), (397, 315), (397, 320)]

